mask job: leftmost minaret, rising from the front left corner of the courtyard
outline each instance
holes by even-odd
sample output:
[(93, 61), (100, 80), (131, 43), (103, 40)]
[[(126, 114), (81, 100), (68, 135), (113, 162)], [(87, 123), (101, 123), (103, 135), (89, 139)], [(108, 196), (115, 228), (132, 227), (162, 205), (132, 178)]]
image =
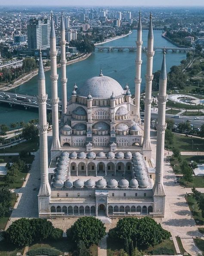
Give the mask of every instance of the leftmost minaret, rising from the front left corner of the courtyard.
[(40, 51), (38, 69), (38, 106), (39, 106), (39, 133), (40, 133), (40, 190), (38, 193), (38, 209), (40, 212), (49, 212), (49, 197), (51, 189), (48, 181), (48, 151), (47, 151), (47, 116), (46, 116), (45, 74)]

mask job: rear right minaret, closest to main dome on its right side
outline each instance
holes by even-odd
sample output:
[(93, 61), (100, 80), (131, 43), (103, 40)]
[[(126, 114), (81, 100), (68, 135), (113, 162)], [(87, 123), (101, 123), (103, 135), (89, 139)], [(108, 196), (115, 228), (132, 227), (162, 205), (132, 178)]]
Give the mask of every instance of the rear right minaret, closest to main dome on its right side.
[(142, 66), (142, 21), (141, 21), (141, 12), (139, 11), (139, 22), (137, 26), (137, 53), (136, 53), (136, 77), (135, 77), (135, 108), (137, 122), (141, 123), (139, 107), (140, 107), (140, 85), (142, 82), (141, 79), (141, 66)]

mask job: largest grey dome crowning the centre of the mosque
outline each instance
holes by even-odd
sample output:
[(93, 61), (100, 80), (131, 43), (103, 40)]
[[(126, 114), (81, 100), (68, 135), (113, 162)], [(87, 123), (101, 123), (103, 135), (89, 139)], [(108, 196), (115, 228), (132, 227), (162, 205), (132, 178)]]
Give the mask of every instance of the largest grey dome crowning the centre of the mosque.
[(90, 93), (93, 98), (109, 99), (110, 92), (115, 96), (121, 96), (124, 94), (124, 90), (120, 83), (111, 77), (98, 76), (88, 79), (84, 85), (78, 90), (78, 95), (87, 97)]

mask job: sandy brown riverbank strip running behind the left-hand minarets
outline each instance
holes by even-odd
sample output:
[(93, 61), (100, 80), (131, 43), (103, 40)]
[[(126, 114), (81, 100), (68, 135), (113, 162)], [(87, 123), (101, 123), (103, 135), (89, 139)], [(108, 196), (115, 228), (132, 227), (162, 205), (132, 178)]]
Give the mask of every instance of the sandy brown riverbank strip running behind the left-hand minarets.
[[(89, 54), (83, 54), (83, 55), (80, 55), (78, 58), (74, 59), (74, 60), (71, 60), (71, 61), (67, 61), (67, 64), (66, 65), (70, 65), (70, 64), (73, 64), (73, 63), (76, 63), (78, 61), (83, 61), (87, 58), (89, 58), (91, 55), (91, 53)], [(57, 65), (57, 67), (60, 67), (60, 64)], [(44, 71), (48, 71), (50, 70), (51, 67), (44, 67)], [(12, 90), (12, 89), (15, 89), (16, 87), (28, 82), (29, 80), (31, 80), (31, 78), (37, 76), (38, 74), (38, 70), (35, 70), (27, 75), (25, 75), (23, 78), (20, 78), (19, 80), (15, 81), (12, 86), (5, 86), (3, 88), (0, 89), (0, 91), (8, 91), (8, 90)]]

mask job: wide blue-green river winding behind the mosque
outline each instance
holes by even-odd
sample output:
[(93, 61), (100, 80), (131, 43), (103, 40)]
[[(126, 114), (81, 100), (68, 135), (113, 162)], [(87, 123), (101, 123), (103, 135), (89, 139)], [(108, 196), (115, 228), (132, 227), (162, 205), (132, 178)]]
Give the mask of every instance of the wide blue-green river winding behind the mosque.
[[(143, 46), (147, 46), (148, 31), (143, 31)], [(108, 46), (135, 46), (136, 45), (136, 30), (132, 34), (119, 38), (117, 40), (107, 42), (104, 45)], [(161, 31), (154, 31), (155, 46), (175, 47), (170, 42), (161, 37)], [(185, 53), (173, 53), (169, 51), (166, 54), (167, 71), (173, 65), (179, 65), (182, 59), (185, 59)], [(135, 58), (136, 52), (130, 51), (95, 51), (93, 54), (84, 61), (77, 62), (67, 66), (68, 77), (68, 97), (71, 96), (74, 83), (77, 83), (78, 88), (90, 77), (97, 76), (100, 73), (100, 66), (105, 76), (109, 76), (117, 80), (121, 86), (128, 83), (131, 93), (134, 93), (134, 77), (135, 77)], [(156, 51), (154, 56), (153, 72), (161, 68), (163, 54), (162, 51)], [(142, 89), (145, 89), (145, 69), (146, 69), (146, 54), (142, 53)], [(117, 71), (116, 71), (117, 70)], [(59, 98), (61, 98), (61, 70), (58, 69), (59, 74)], [(45, 72), (46, 77), (46, 92), (51, 96), (50, 86), (50, 70)], [(13, 92), (36, 95), (37, 94), (37, 76), (33, 77), (28, 82), (22, 84)], [(16, 109), (16, 107), (7, 107), (0, 105), (0, 123), (9, 125), (11, 122), (24, 121), (28, 122), (32, 118), (38, 118), (37, 110), (24, 110)]]

